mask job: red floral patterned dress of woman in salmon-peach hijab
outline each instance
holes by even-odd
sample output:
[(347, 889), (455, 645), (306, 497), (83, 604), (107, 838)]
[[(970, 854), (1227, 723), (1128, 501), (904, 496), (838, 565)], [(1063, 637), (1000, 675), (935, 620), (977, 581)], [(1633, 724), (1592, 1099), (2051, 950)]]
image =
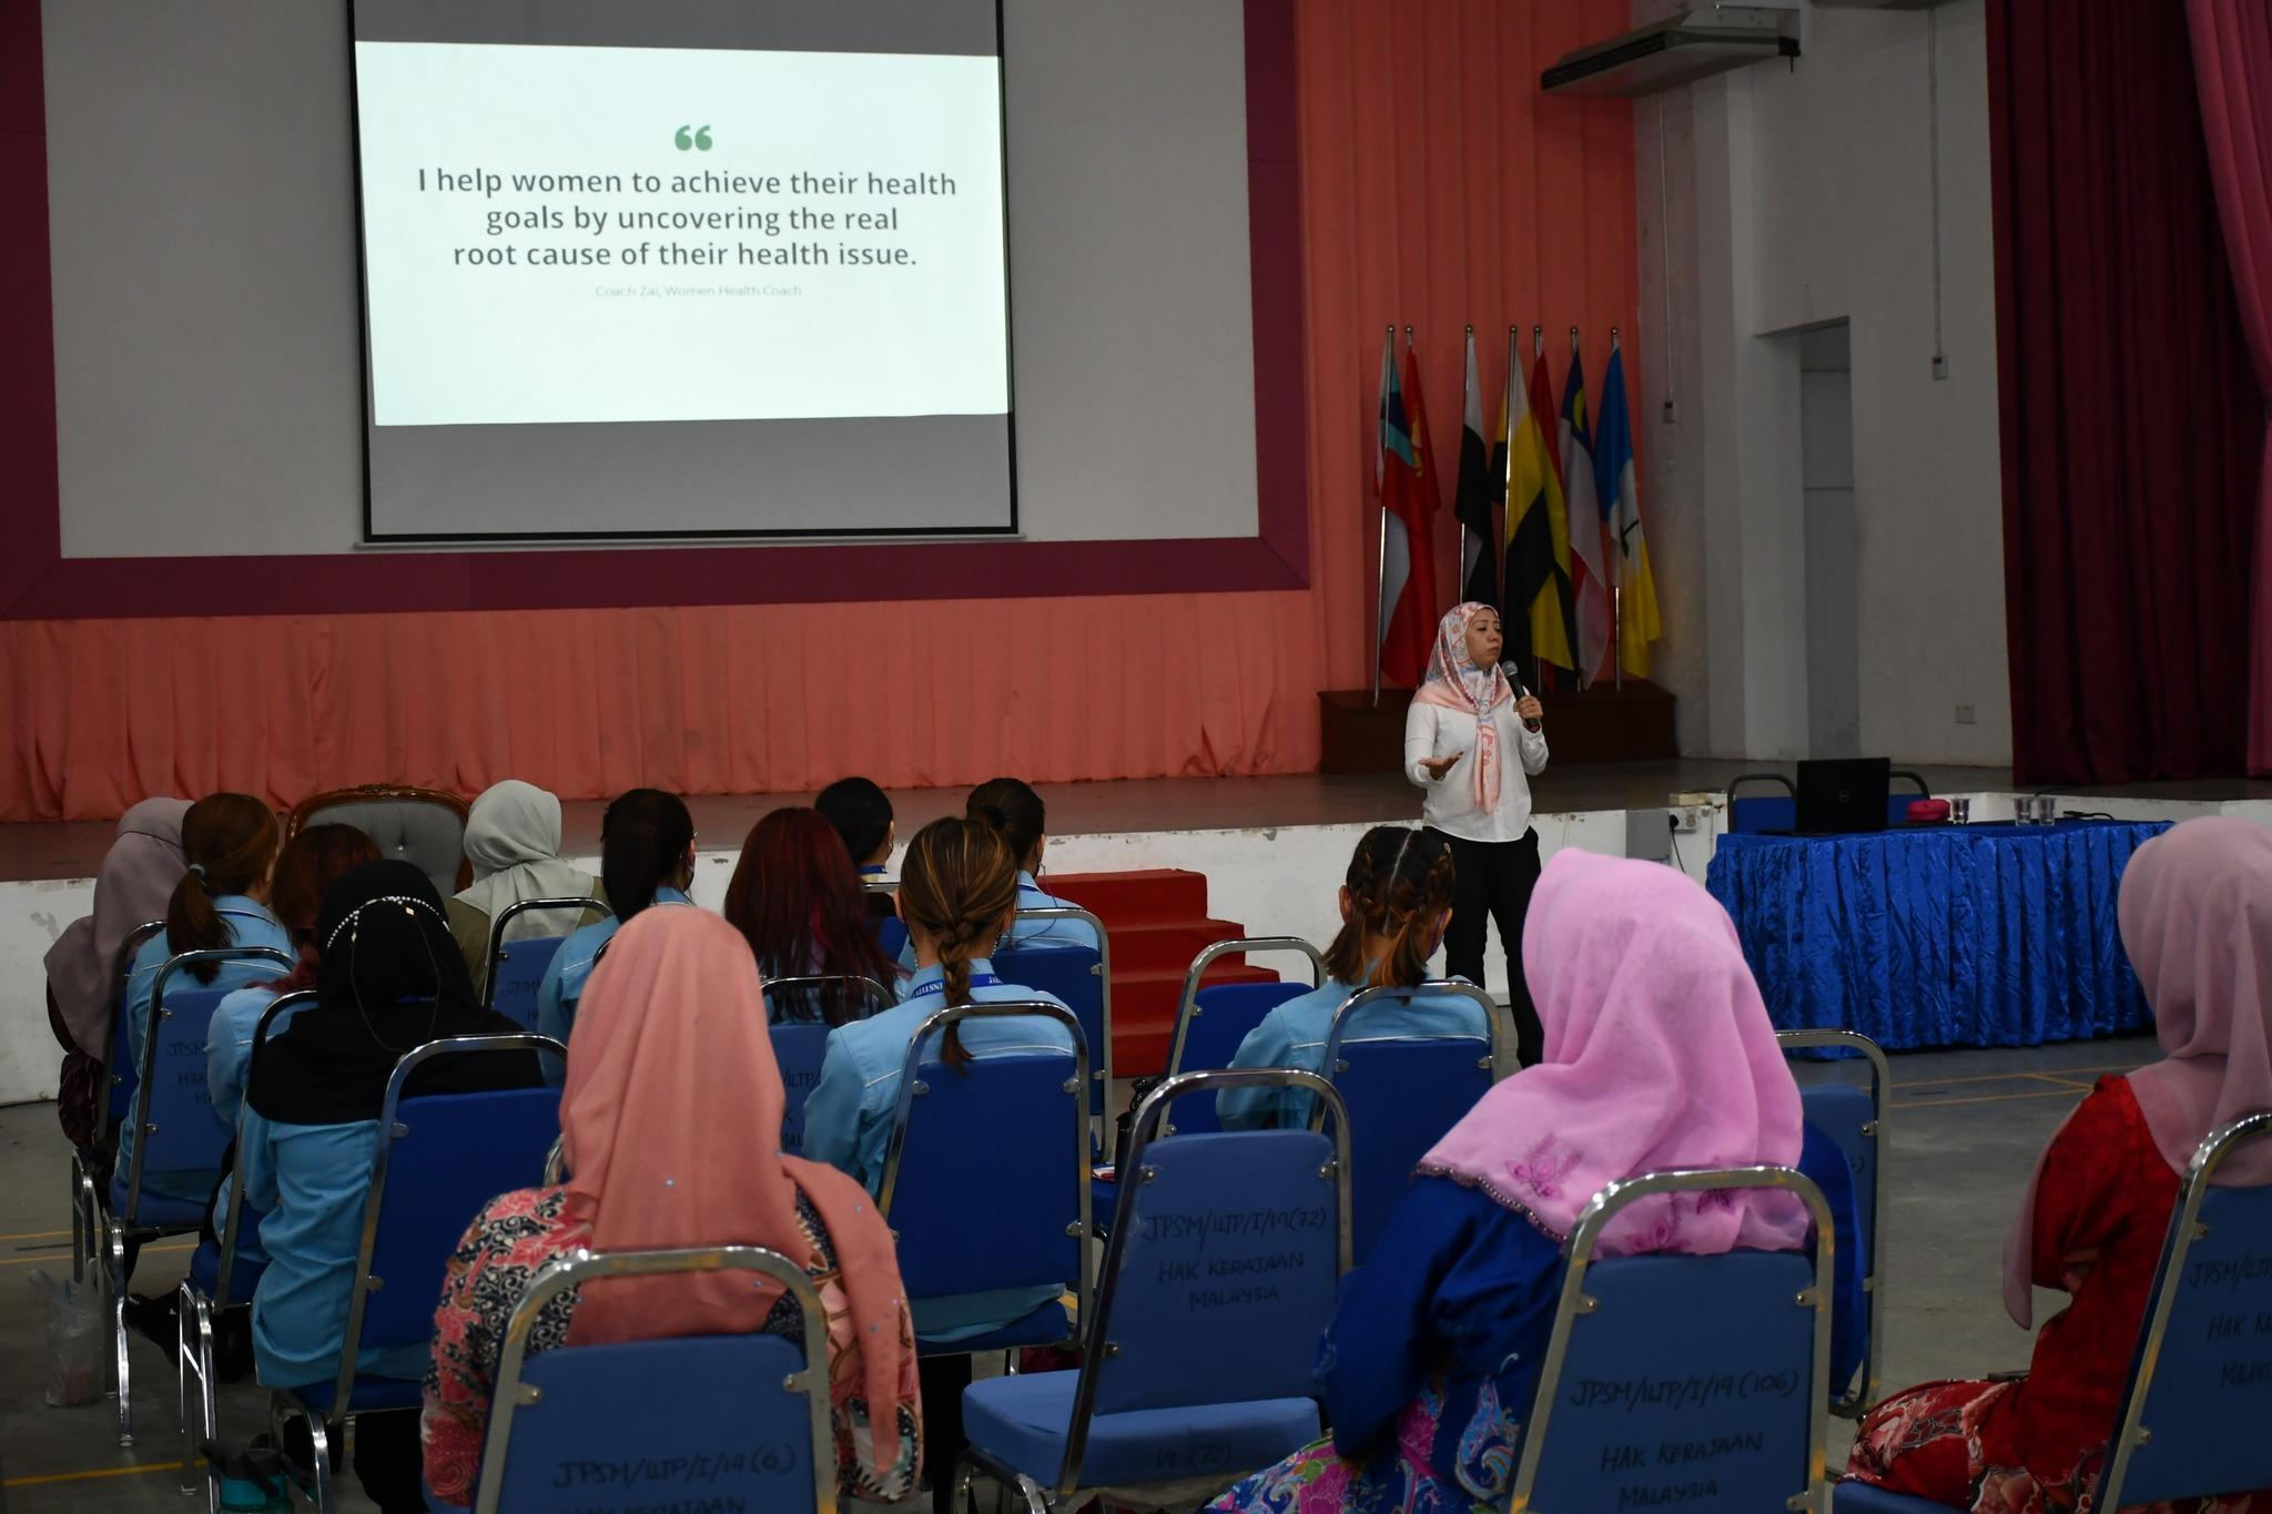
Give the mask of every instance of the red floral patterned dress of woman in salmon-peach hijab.
[[(425, 1380), (427, 1487), (443, 1500), (470, 1505), (482, 1475), (482, 1437), (488, 1432), (488, 1401), (504, 1353), (504, 1326), (513, 1305), (527, 1294), (536, 1273), (579, 1246), (591, 1244), (591, 1226), (566, 1217), (563, 1187), (525, 1187), (493, 1198), (482, 1210), (443, 1276), (441, 1307), (434, 1310), (434, 1360)], [(797, 1221), (811, 1244), (807, 1269), (813, 1292), (829, 1317), (829, 1403), (836, 1425), (836, 1487), (847, 1498), (895, 1503), (916, 1491), (922, 1469), (922, 1412), (913, 1398), (891, 1405), (900, 1421), (900, 1457), (891, 1466), (875, 1464), (875, 1437), (868, 1435), (870, 1405), (861, 1378), (859, 1344), (852, 1337), (852, 1310), (836, 1276), (836, 1251), (811, 1201), (797, 1194)], [(582, 1298), (568, 1289), (552, 1298), (529, 1332), (529, 1353), (550, 1351), (568, 1339), (568, 1321)], [(786, 1294), (772, 1305), (763, 1330), (802, 1344), (804, 1321), (795, 1298)], [(900, 1305), (900, 1339), (916, 1353), (916, 1330)]]

